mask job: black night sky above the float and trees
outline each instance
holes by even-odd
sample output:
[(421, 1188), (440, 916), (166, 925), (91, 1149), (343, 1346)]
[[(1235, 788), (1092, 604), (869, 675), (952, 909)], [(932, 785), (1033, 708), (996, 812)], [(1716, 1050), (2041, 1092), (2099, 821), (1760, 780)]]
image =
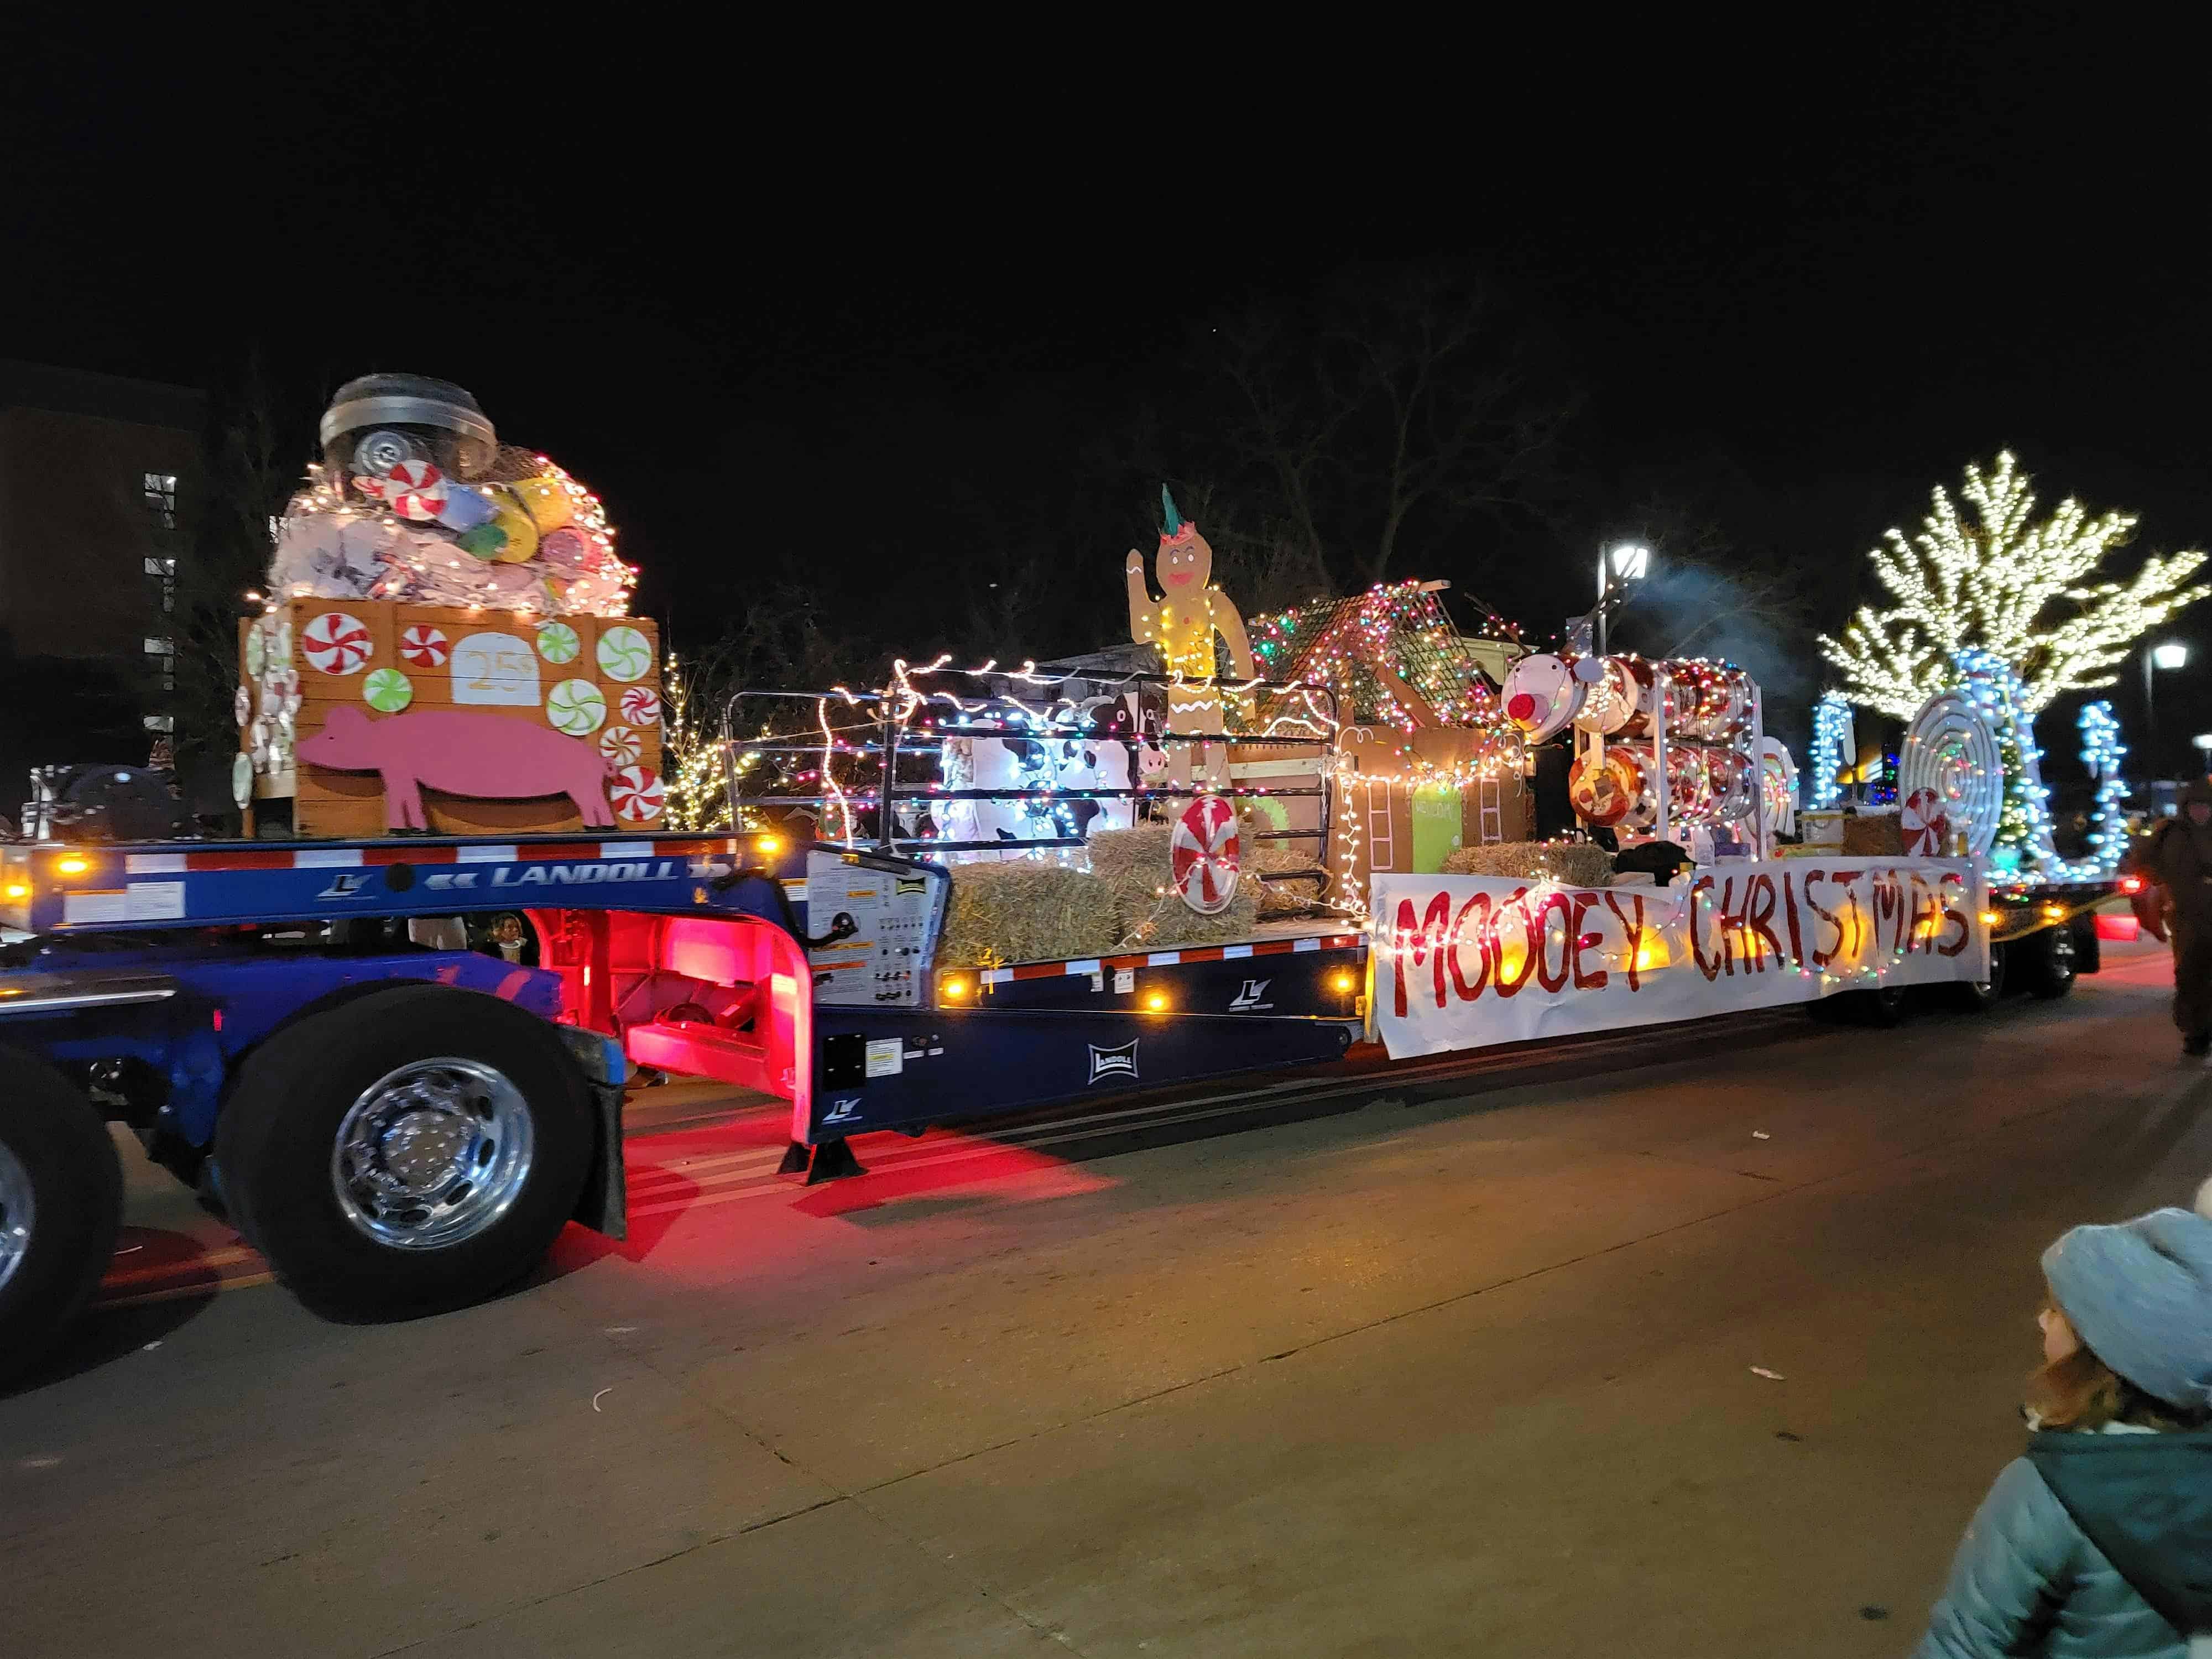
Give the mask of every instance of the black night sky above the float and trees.
[[(902, 529), (933, 480), (989, 500), (1051, 473), (1133, 378), (1172, 396), (1210, 310), (1451, 254), (1502, 274), (1582, 389), (1593, 493), (1728, 465), (1856, 560), (2013, 445), (2048, 498), (2143, 511), (2146, 544), (2212, 538), (2177, 40), (2020, 7), (1710, 35), (1460, 13), (874, 35), (863, 62), (535, 15), (126, 51), (13, 24), (0, 356), (221, 387), (257, 347), (303, 460), (338, 378), (460, 380), (602, 489), (644, 604), (701, 633), (763, 540), (942, 560)], [(1438, 573), (1546, 628), (1579, 602), (1544, 586), (1564, 549), (1489, 557), (1515, 580)]]

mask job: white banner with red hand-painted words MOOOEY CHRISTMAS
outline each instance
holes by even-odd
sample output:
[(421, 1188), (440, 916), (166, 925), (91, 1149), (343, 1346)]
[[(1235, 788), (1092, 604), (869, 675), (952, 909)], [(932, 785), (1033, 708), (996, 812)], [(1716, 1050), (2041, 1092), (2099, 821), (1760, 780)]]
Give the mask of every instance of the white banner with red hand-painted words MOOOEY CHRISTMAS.
[(1966, 858), (1772, 858), (1681, 887), (1383, 874), (1369, 902), (1394, 1060), (1989, 978)]

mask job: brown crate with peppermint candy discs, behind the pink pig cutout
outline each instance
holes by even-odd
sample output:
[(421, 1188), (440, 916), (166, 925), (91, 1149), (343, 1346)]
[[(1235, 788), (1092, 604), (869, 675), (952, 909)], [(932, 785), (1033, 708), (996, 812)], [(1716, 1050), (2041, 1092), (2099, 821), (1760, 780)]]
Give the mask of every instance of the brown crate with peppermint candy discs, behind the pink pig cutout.
[[(252, 646), (257, 635), (259, 650)], [(617, 785), (613, 774), (628, 745), (635, 745), (628, 765), (653, 781), (661, 774), (659, 661), (659, 630), (648, 617), (522, 617), (389, 599), (294, 599), (268, 617), (239, 624), (239, 672), (252, 712), (274, 712), (272, 675), (290, 668), (299, 677), (294, 743), (323, 732), (338, 708), (358, 710), (369, 721), (462, 710), (560, 730), (549, 714), (555, 692), (564, 699), (562, 708), (582, 703), (586, 714), (597, 697), (597, 721), (573, 737), (608, 757), (608, 734), (626, 734), (617, 739), (622, 752), (606, 759), (608, 785)], [(398, 708), (389, 706), (398, 690), (392, 672), (405, 677), (407, 701)], [(372, 695), (385, 706), (372, 703)], [(248, 728), (241, 748), (250, 745)], [(378, 772), (305, 763), (257, 779), (257, 796), (290, 796), (292, 825), (301, 836), (387, 834)], [(617, 832), (657, 825), (657, 814), (646, 816), (633, 796), (630, 790), (613, 796), (630, 807), (617, 810)], [(473, 799), (425, 787), (422, 807), (434, 834), (557, 834), (584, 827), (584, 816), (564, 794)]]

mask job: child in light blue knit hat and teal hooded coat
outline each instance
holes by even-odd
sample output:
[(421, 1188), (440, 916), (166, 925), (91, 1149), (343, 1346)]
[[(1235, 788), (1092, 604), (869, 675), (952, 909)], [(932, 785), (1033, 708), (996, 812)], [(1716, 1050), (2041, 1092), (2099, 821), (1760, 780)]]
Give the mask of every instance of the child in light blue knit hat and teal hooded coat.
[(2212, 1659), (2212, 1181), (2044, 1252), (2028, 1451), (1913, 1659)]

